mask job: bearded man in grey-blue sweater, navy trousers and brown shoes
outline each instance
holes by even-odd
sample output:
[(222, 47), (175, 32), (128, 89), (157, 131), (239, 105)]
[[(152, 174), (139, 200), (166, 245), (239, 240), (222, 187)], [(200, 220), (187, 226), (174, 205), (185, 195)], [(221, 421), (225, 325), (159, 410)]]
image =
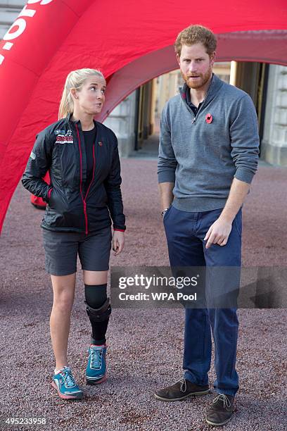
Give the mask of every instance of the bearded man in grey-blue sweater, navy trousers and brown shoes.
[[(248, 94), (212, 73), (216, 46), (215, 35), (200, 25), (177, 37), (185, 84), (162, 111), (158, 182), (170, 265), (232, 266), (240, 272), (241, 207), (257, 170), (257, 116)], [(238, 285), (236, 275), (234, 280)], [(206, 420), (215, 426), (231, 419), (238, 391), (232, 307), (186, 308), (184, 377), (155, 392), (164, 401), (208, 394), (211, 326), (217, 396)]]

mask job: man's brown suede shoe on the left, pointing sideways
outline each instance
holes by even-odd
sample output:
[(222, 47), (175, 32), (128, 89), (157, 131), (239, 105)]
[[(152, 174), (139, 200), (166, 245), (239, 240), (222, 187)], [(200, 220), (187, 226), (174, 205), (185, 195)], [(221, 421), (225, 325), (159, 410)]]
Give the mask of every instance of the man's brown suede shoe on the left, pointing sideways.
[(183, 378), (174, 385), (165, 387), (155, 392), (155, 398), (161, 399), (162, 401), (181, 401), (181, 399), (186, 399), (191, 395), (200, 396), (206, 395), (208, 393), (208, 385), (199, 386)]

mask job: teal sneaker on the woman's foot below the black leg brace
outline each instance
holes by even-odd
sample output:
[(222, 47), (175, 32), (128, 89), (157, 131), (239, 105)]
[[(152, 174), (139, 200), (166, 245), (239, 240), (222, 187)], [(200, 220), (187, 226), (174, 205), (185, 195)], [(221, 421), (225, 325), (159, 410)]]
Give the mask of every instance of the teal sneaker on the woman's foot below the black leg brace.
[(89, 358), (86, 368), (86, 380), (89, 385), (97, 385), (106, 380), (106, 351), (107, 345), (89, 346)]

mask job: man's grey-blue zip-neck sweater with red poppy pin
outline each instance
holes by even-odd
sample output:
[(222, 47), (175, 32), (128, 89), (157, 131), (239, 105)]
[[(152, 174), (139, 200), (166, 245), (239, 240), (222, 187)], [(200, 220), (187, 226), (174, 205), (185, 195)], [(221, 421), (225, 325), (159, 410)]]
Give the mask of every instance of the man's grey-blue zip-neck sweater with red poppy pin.
[(253, 101), (216, 75), (196, 117), (185, 98), (186, 84), (162, 111), (158, 182), (175, 183), (172, 205), (181, 211), (223, 208), (233, 178), (250, 183), (257, 170)]

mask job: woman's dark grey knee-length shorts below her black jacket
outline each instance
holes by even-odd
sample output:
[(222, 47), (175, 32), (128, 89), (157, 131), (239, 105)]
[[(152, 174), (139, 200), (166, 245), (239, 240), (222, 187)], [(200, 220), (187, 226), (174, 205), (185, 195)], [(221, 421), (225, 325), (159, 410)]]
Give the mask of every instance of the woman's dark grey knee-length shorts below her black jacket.
[(106, 271), (110, 260), (110, 226), (90, 232), (55, 232), (43, 229), (46, 271), (51, 275), (77, 272), (77, 254), (83, 270)]

